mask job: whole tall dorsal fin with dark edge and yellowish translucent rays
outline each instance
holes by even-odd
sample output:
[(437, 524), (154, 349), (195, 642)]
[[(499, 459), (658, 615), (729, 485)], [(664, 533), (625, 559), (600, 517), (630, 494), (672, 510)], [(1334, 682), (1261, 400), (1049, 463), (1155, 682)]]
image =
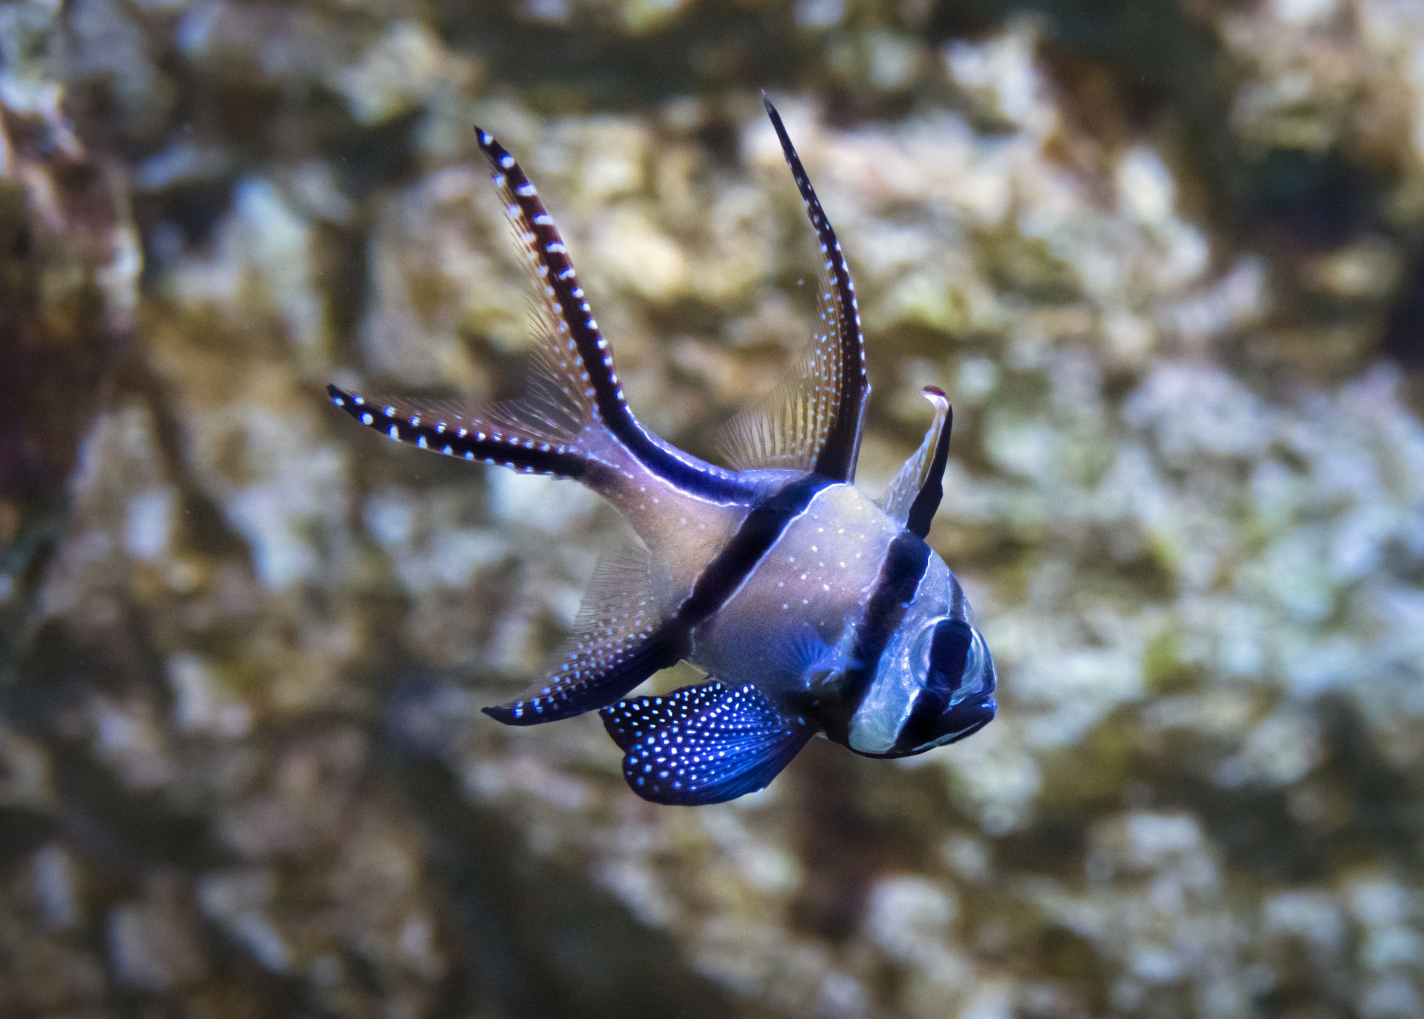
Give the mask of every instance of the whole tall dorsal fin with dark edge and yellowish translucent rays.
[(854, 481), (870, 396), (856, 286), (780, 114), (765, 97), (763, 102), (820, 245), (820, 320), (796, 381), (778, 391), (778, 404), (769, 414), (735, 420), (723, 448), (742, 470), (785, 467), (816, 471), (833, 481)]

